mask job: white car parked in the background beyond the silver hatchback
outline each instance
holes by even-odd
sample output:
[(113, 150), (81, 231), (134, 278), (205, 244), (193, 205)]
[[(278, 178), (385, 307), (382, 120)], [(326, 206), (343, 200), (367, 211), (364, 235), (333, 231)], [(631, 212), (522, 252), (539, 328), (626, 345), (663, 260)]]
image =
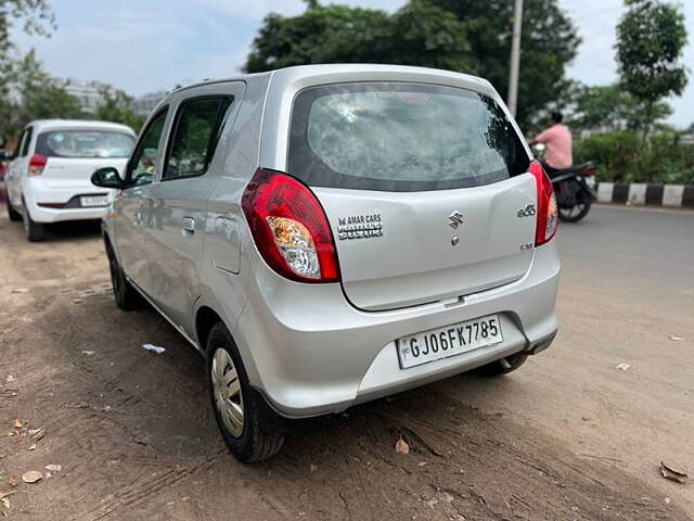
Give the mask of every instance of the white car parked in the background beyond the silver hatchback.
[(24, 220), (29, 241), (43, 239), (49, 223), (101, 219), (114, 191), (97, 189), (89, 179), (106, 166), (123, 171), (134, 138), (130, 127), (116, 123), (31, 122), (10, 158), (10, 219)]

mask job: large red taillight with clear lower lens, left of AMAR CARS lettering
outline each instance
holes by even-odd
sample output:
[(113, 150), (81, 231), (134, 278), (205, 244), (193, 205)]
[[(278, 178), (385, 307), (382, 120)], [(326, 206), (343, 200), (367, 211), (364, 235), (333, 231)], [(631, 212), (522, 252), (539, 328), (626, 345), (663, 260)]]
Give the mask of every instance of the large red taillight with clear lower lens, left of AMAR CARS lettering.
[(260, 168), (241, 200), (258, 251), (278, 274), (298, 282), (336, 282), (339, 265), (323, 207), (293, 177)]

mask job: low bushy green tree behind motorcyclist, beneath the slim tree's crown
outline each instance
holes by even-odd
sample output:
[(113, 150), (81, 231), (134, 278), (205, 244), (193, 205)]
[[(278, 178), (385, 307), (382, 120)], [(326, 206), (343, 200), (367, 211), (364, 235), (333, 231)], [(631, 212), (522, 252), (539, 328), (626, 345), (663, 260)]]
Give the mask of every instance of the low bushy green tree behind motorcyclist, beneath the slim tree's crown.
[(650, 120), (661, 127), (663, 119), (672, 114), (666, 101), (658, 101), (647, 113), (644, 104), (619, 85), (582, 87), (574, 103), (568, 119), (573, 130), (635, 131)]

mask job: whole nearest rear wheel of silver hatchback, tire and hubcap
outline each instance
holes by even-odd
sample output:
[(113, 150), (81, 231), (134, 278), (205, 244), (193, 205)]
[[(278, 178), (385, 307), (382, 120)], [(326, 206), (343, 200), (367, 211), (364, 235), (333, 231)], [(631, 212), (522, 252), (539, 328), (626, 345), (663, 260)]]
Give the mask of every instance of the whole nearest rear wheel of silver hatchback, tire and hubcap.
[(222, 322), (207, 336), (209, 398), (229, 449), (246, 463), (274, 455), (284, 436), (268, 427), (274, 415), (248, 383), (236, 345)]

